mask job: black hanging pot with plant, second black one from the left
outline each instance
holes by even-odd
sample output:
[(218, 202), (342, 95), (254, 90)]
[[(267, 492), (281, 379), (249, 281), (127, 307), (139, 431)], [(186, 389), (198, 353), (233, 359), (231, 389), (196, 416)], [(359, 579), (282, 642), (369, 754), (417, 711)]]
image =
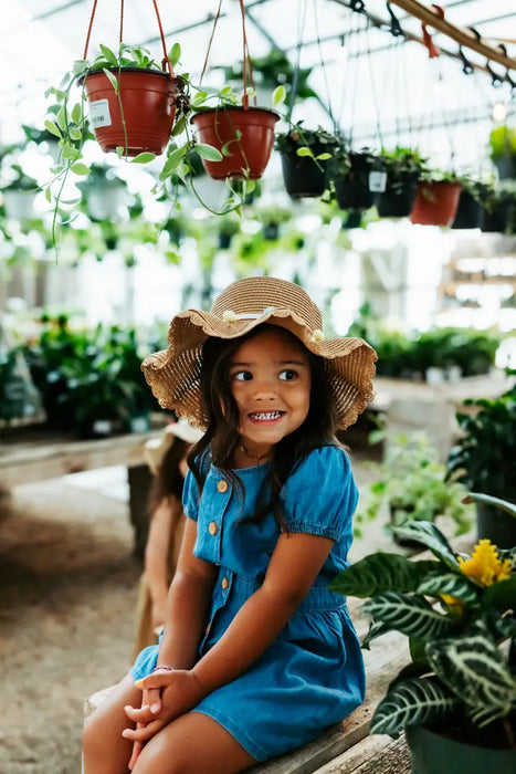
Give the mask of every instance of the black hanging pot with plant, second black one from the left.
[(341, 210), (367, 210), (372, 207), (373, 196), (369, 188), (369, 174), (377, 157), (368, 148), (348, 150), (339, 144), (331, 164), (331, 178), (337, 205)]

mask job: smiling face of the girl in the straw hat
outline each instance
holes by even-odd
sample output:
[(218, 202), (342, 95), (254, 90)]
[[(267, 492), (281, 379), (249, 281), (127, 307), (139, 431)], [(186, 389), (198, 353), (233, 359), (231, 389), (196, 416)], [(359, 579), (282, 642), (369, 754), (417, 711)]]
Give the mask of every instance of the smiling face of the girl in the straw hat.
[(310, 399), (308, 356), (282, 328), (244, 342), (230, 364), (230, 387), (249, 452), (265, 456), (305, 421)]

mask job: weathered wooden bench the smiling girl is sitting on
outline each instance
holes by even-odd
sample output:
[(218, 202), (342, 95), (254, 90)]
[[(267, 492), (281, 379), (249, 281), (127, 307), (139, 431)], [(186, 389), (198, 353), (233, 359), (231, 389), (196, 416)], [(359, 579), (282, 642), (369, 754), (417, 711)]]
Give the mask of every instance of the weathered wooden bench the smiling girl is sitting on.
[[(368, 620), (358, 613), (361, 600), (349, 599), (349, 608), (361, 637)], [(410, 772), (410, 755), (401, 738), (368, 736), (372, 713), (392, 678), (409, 662), (407, 638), (391, 632), (381, 646), (364, 651), (367, 676), (366, 700), (341, 723), (327, 729), (318, 739), (293, 753), (253, 766), (249, 774), (404, 774)], [(87, 718), (108, 695), (112, 688), (88, 697)], [(404, 766), (404, 767), (403, 767)]]

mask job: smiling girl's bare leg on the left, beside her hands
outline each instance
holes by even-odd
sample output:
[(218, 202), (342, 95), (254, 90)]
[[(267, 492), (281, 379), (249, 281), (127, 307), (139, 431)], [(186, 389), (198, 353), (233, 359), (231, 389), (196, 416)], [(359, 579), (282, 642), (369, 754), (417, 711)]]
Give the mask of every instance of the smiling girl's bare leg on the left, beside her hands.
[(124, 729), (134, 723), (124, 707), (141, 704), (141, 691), (127, 674), (105, 701), (87, 718), (83, 732), (84, 774), (127, 774), (133, 742), (124, 739)]

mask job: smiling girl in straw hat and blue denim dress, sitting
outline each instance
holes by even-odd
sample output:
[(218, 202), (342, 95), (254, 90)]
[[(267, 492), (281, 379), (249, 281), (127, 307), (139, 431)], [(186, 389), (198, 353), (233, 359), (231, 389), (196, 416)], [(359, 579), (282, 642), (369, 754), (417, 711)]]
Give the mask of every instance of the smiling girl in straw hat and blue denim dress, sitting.
[(84, 734), (85, 774), (232, 774), (315, 739), (364, 700), (343, 596), (357, 489), (335, 430), (371, 398), (376, 354), (324, 341), (319, 310), (274, 278), (231, 284), (170, 324), (144, 370), (206, 430), (159, 646)]

